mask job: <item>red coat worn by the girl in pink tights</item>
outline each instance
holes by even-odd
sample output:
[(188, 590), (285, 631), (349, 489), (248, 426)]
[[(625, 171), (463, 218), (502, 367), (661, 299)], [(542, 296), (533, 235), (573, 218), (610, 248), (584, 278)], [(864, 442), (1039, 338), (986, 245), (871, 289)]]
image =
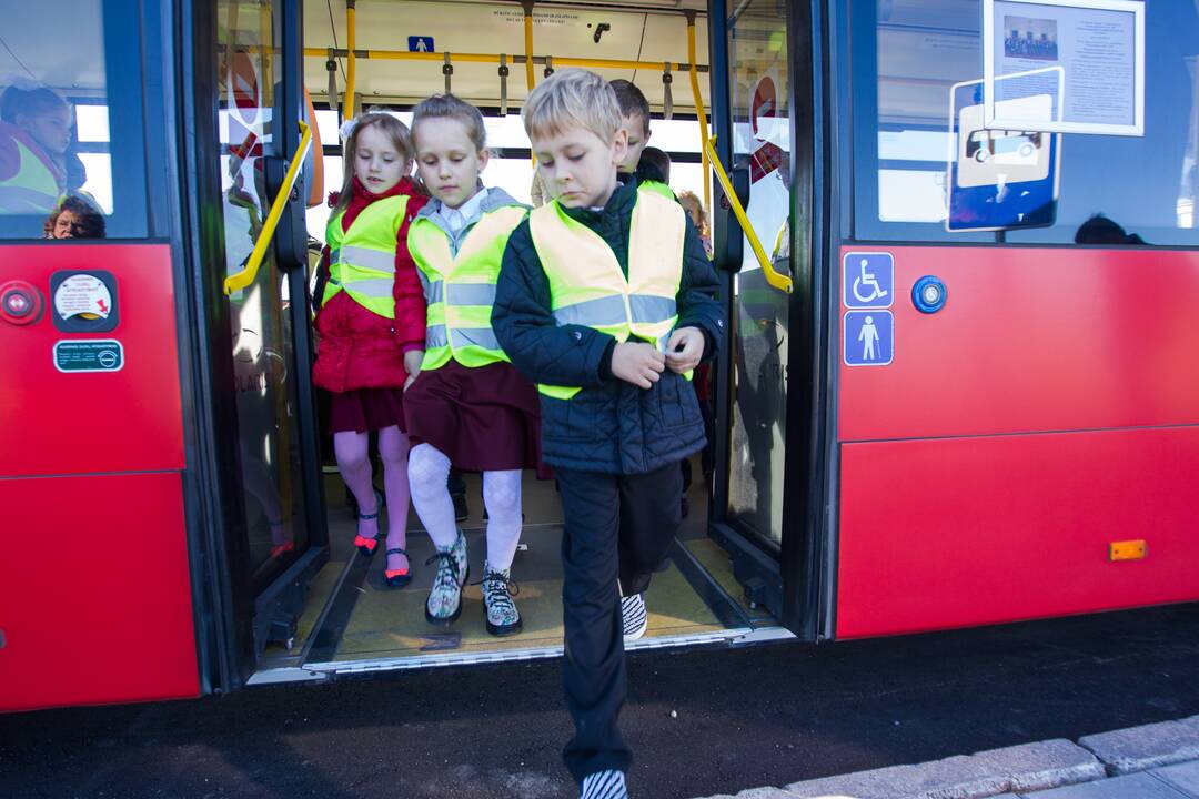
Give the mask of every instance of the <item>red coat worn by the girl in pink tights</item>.
[[(372, 194), (357, 178), (354, 196), (342, 217), (342, 230), (349, 230), (362, 208), (375, 200), (408, 194), (408, 210), (399, 225), (396, 242), (396, 282), (391, 295), (396, 301), (396, 319), (368, 310), (345, 291), (339, 291), (317, 313), (317, 362), (312, 380), (331, 392), (357, 388), (400, 388), (408, 379), (404, 353), (424, 349), (424, 291), (416, 264), (408, 252), (408, 226), (428, 198), (416, 193), (406, 177), (384, 194)], [(329, 248), (321, 258), (329, 262)], [(325, 267), (327, 268), (327, 267)]]

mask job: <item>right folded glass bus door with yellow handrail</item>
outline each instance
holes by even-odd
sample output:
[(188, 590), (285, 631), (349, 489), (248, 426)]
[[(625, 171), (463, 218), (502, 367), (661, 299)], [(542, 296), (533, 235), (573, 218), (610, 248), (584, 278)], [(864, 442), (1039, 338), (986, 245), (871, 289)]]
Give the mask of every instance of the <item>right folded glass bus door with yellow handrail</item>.
[[(806, 4), (712, 2), (716, 151), (743, 216), (719, 190), (716, 265), (729, 302), (717, 375), (711, 534), (752, 607), (801, 636), (815, 603), (805, 574), (812, 394), (811, 28)], [(795, 7), (793, 7), (795, 6)], [(803, 18), (800, 18), (803, 17)], [(800, 69), (796, 72), (796, 69)]]

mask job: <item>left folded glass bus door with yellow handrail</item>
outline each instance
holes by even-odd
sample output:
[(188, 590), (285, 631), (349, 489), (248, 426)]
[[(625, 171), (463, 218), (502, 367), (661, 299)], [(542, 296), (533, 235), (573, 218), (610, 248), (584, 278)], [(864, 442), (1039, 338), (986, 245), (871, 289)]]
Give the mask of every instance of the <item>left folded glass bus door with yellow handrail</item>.
[(329, 559), (309, 385), (308, 190), (302, 177), (287, 182), (306, 144), (300, 14), (291, 2), (217, 2), (211, 54), (197, 53), (197, 127), (209, 126), (197, 137), (200, 268), (223, 509), (212, 528), (235, 680), (269, 649), (285, 658), (296, 646), (307, 585)]

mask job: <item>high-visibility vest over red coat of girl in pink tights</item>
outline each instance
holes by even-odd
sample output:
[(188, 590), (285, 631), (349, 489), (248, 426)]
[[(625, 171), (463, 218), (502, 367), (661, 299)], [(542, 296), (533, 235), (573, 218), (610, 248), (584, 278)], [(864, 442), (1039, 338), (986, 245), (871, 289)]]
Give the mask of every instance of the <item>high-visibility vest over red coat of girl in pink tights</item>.
[(408, 210), (408, 195), (375, 200), (359, 212), (350, 229), (342, 231), (338, 212), (329, 220), (329, 284), (321, 305), (339, 291), (380, 316), (396, 319), (392, 286), (396, 283), (396, 236)]

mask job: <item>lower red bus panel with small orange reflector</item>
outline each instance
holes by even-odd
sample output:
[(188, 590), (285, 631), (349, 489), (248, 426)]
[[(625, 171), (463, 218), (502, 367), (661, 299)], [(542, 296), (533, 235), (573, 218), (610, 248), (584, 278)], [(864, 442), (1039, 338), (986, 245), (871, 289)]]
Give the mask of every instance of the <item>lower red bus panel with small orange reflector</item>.
[(837, 637), (1199, 599), (1199, 428), (840, 452)]

